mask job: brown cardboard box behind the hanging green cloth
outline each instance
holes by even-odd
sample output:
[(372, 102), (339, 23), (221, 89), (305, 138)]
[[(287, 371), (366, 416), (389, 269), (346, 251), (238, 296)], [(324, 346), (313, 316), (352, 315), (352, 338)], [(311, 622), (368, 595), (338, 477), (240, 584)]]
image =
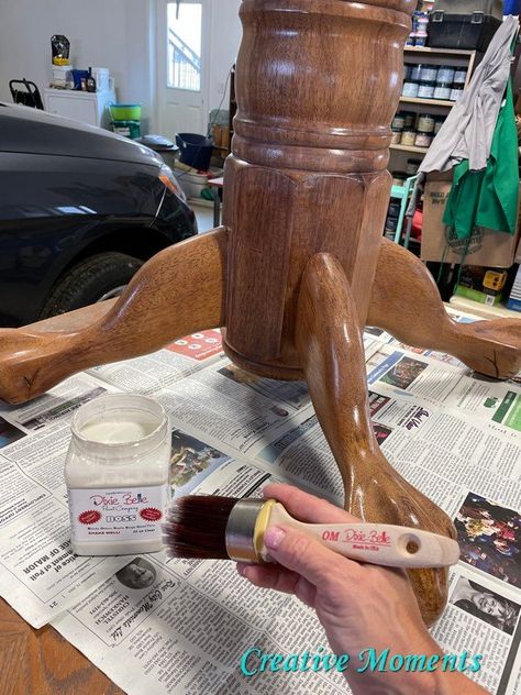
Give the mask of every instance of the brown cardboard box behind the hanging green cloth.
[[(466, 241), (455, 240), (447, 244), (443, 213), (451, 191), (452, 174), (429, 174), (423, 194), (423, 228), (421, 260), (440, 263), (465, 263), (509, 268), (514, 260), (519, 241), (518, 233), (508, 234), (478, 228), (465, 254)], [(520, 195), (521, 203), (521, 195)], [(518, 212), (519, 219), (519, 212)]]

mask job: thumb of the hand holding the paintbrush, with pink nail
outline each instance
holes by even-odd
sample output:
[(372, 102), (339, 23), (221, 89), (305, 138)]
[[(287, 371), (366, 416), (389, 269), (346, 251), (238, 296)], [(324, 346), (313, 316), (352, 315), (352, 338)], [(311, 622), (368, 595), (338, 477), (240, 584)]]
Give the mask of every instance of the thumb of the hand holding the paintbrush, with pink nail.
[(350, 574), (354, 578), (359, 571), (353, 560), (288, 526), (269, 527), (264, 534), (264, 544), (276, 562), (297, 572), (317, 588), (337, 587), (339, 583), (345, 584)]

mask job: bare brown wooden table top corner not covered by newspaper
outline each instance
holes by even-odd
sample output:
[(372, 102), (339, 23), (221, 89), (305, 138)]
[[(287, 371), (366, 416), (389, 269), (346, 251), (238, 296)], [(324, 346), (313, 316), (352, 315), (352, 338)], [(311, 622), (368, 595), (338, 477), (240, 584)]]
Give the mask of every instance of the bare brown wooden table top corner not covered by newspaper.
[(34, 630), (0, 598), (2, 695), (124, 695), (54, 628)]

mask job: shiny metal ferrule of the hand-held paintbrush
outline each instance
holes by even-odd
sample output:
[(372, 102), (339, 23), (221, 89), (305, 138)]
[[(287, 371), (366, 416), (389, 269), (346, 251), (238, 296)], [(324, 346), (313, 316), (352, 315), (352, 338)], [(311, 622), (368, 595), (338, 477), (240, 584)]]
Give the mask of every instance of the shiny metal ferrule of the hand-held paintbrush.
[(274, 500), (241, 499), (228, 518), (226, 552), (236, 562), (262, 562), (264, 531)]

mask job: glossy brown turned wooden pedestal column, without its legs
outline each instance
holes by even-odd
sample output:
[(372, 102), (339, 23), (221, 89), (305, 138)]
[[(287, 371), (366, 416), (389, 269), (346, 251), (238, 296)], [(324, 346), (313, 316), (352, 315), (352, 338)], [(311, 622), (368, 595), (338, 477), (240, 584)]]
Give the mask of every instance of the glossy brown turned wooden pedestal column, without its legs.
[[(335, 254), (364, 324), (390, 190), (385, 170), (411, 0), (245, 0), (226, 159), (229, 355), (299, 377), (309, 258)], [(263, 316), (262, 323), (258, 317)]]

